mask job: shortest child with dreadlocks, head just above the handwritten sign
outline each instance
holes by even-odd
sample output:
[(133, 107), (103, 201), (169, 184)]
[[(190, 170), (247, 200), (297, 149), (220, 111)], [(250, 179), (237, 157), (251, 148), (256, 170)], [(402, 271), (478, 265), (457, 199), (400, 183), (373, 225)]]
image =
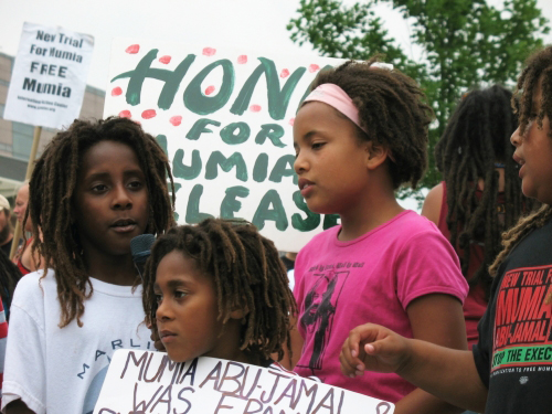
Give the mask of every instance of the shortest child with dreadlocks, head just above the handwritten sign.
[(169, 357), (275, 367), (289, 346), (295, 300), (274, 244), (253, 224), (208, 219), (159, 237), (146, 265), (144, 308)]

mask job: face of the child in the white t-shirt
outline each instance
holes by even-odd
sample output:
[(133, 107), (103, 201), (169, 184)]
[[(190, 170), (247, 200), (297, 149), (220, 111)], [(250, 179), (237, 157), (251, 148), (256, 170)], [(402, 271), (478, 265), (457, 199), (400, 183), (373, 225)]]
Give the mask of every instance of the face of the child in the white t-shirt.
[(83, 157), (74, 198), (78, 236), (88, 259), (130, 254), (148, 224), (146, 178), (127, 145), (100, 141)]

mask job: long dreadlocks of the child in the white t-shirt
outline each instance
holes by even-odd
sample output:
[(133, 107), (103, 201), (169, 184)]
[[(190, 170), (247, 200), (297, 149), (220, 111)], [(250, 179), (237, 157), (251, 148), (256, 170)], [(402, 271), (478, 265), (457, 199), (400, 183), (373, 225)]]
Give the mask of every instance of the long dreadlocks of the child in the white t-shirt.
[[(76, 231), (73, 198), (84, 155), (94, 145), (106, 140), (129, 146), (138, 158), (148, 189), (149, 220), (146, 233), (161, 234), (174, 224), (174, 185), (170, 164), (155, 138), (138, 124), (117, 117), (97, 121), (76, 119), (67, 130), (59, 132), (34, 167), (24, 222), (30, 216), (34, 236), (33, 253), (38, 252), (44, 257), (42, 277), (45, 277), (47, 268), (55, 270), (62, 310), (60, 328), (75, 318), (79, 327), (83, 325), (84, 300), (93, 294)], [(169, 197), (167, 178), (170, 180), (172, 199)]]

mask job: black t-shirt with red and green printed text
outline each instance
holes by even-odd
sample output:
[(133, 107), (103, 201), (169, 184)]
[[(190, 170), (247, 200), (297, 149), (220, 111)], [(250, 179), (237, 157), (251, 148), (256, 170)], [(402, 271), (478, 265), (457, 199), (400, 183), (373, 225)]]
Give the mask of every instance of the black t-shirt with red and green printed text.
[(501, 264), (474, 359), (489, 389), (486, 413), (552, 413), (552, 221)]

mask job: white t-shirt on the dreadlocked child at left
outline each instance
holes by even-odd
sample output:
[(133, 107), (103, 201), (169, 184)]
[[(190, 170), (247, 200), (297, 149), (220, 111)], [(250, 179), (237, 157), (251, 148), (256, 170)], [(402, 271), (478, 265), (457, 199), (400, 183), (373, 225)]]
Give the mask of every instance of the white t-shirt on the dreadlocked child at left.
[(21, 399), (36, 414), (88, 414), (94, 410), (113, 352), (153, 350), (144, 321), (141, 286), (91, 278), (84, 323), (60, 329), (54, 272), (31, 273), (18, 284), (10, 315), (2, 411)]

